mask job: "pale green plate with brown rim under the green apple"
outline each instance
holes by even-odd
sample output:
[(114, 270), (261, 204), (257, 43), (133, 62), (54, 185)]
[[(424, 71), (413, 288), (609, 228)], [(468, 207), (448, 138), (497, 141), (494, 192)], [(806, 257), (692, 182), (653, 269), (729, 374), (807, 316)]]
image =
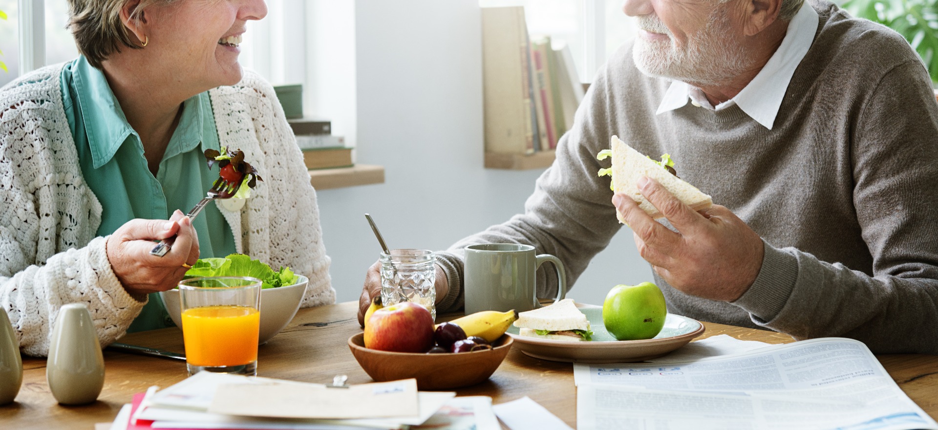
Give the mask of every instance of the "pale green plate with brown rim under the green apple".
[(593, 340), (590, 342), (566, 342), (539, 339), (518, 334), (519, 329), (511, 326), (507, 333), (515, 339), (515, 347), (528, 356), (550, 361), (585, 363), (618, 363), (645, 361), (661, 357), (674, 349), (685, 346), (691, 339), (703, 334), (703, 324), (687, 316), (668, 314), (664, 328), (652, 339), (641, 341), (617, 341), (602, 324), (602, 308), (577, 304), (590, 321)]

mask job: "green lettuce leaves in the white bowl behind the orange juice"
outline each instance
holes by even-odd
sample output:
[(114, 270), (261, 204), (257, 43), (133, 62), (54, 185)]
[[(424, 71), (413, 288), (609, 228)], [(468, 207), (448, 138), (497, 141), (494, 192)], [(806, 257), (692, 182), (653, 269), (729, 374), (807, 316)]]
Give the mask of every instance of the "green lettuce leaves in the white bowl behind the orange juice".
[(299, 279), (290, 268), (270, 269), (265, 262), (252, 260), (243, 253), (233, 253), (224, 258), (200, 258), (192, 269), (186, 271), (186, 279), (204, 276), (250, 276), (264, 283), (262, 289), (293, 285)]

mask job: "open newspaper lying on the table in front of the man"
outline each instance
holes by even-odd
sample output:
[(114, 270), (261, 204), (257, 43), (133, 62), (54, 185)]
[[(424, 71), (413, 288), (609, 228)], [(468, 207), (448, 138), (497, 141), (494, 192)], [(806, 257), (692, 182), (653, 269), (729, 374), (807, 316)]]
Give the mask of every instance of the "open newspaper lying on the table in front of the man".
[(852, 339), (685, 363), (574, 364), (580, 429), (938, 430)]

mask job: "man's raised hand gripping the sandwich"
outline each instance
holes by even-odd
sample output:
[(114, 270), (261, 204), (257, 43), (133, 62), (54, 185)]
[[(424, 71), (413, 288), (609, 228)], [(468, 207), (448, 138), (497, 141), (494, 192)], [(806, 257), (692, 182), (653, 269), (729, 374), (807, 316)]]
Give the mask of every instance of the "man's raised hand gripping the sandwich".
[(639, 253), (655, 272), (691, 296), (739, 299), (762, 269), (762, 238), (726, 207), (695, 212), (654, 179), (643, 177), (638, 187), (677, 229), (673, 232), (653, 220), (628, 195), (613, 195)]

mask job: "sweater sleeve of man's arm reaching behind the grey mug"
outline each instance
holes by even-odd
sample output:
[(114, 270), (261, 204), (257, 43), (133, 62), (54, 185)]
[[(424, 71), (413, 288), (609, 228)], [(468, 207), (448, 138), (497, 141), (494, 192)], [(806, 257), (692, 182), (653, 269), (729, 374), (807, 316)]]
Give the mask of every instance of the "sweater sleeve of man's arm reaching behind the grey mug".
[[(446, 312), (462, 307), (463, 249), (477, 243), (523, 243), (537, 253), (550, 253), (564, 262), (567, 287), (582, 274), (589, 261), (602, 251), (621, 227), (615, 218), (608, 177), (597, 177), (601, 167), (596, 159), (600, 149), (609, 147), (609, 89), (605, 72), (590, 85), (573, 127), (564, 134), (556, 149), (556, 160), (537, 178), (535, 191), (524, 203), (524, 213), (506, 223), (463, 238), (446, 252), (437, 253), (438, 264), (446, 273), (449, 290), (437, 303)], [(556, 273), (549, 266), (537, 269), (537, 295), (554, 297)]]

